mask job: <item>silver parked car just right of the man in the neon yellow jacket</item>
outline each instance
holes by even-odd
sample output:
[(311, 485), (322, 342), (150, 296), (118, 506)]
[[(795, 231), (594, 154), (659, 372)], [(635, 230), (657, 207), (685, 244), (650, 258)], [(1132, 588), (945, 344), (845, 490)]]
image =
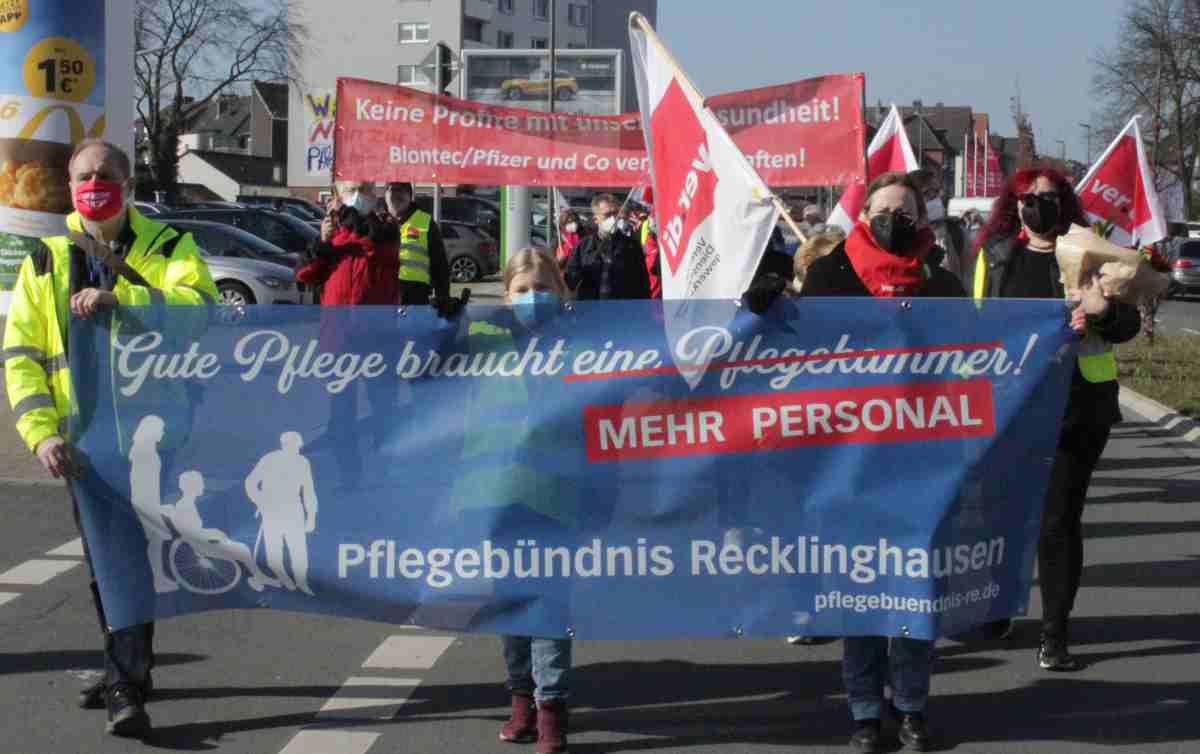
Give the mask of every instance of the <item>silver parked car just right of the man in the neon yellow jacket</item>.
[(217, 303), (313, 303), (313, 292), (295, 280), (300, 255), (218, 222), (172, 220), (169, 225), (192, 234), (217, 286)]

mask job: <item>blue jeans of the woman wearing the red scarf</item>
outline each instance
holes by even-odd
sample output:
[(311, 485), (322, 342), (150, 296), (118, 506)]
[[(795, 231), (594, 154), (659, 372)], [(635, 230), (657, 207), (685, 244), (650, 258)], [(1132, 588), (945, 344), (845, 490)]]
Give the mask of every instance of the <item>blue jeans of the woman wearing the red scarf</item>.
[(883, 717), (883, 686), (892, 684), (892, 701), (901, 712), (924, 712), (929, 700), (929, 676), (934, 666), (934, 642), (923, 639), (846, 636), (842, 640), (841, 676), (846, 683), (850, 713), (856, 720)]

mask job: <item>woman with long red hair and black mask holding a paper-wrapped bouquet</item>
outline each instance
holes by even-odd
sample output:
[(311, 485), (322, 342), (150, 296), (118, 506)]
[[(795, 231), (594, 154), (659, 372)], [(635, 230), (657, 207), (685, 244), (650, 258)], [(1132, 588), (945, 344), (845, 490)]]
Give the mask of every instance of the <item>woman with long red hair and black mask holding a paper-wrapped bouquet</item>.
[[(1093, 281), (1064, 291), (1055, 246), (1072, 223), (1086, 225), (1079, 199), (1067, 179), (1049, 168), (1031, 168), (1009, 179), (980, 231), (974, 270), (974, 298), (1063, 299), (1078, 304), (1070, 327), (1084, 342), (1079, 349), (1058, 449), (1050, 472), (1038, 540), (1038, 584), (1042, 588), (1042, 644), (1038, 664), (1045, 670), (1075, 670), (1068, 652), (1067, 624), (1084, 564), (1082, 517), (1087, 486), (1112, 425), (1121, 420), (1117, 365), (1112, 343), (1138, 335), (1138, 309), (1106, 299)], [(990, 624), (1004, 638), (1012, 622)]]

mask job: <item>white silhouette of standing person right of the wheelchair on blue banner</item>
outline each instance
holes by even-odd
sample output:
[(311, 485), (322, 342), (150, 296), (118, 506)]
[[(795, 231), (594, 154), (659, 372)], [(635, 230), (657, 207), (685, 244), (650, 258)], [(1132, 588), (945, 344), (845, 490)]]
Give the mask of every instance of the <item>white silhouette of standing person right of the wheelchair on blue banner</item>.
[[(312, 594), (306, 534), (317, 531), (317, 492), (312, 466), (300, 455), (301, 447), (299, 432), (283, 432), (280, 450), (264, 455), (246, 478), (246, 496), (263, 516), (266, 564), (284, 587)], [(284, 546), (292, 557), (294, 580), (283, 566)]]

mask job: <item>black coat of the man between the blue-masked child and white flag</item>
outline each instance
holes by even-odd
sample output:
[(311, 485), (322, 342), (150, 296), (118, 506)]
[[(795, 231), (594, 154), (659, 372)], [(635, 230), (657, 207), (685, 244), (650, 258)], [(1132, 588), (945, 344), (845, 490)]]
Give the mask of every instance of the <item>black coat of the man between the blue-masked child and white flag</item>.
[(650, 298), (650, 276), (646, 257), (637, 239), (626, 233), (613, 233), (601, 239), (599, 234), (583, 237), (566, 261), (566, 285), (575, 289), (581, 301), (600, 299), (604, 265), (608, 269), (608, 299)]

